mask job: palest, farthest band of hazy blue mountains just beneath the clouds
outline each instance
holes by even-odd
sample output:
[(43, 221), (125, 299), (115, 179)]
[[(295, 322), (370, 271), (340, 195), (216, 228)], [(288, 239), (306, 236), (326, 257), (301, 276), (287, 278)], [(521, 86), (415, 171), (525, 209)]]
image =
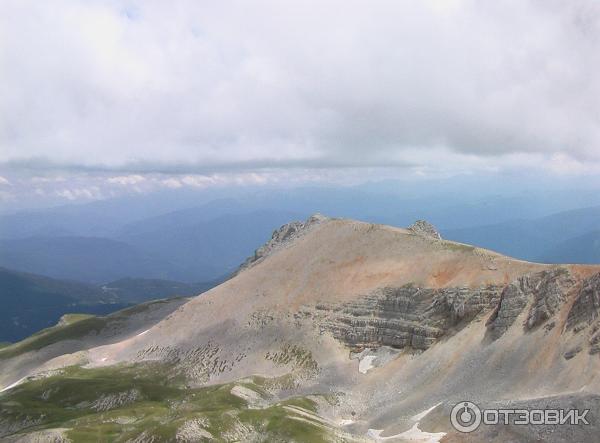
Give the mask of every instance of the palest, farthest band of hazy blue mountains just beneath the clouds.
[[(404, 226), (425, 218), (440, 229), (532, 219), (600, 205), (595, 189), (579, 184), (532, 185), (511, 177), (385, 180), (355, 186), (176, 189), (85, 204), (30, 209), (0, 216), (0, 238), (83, 236), (116, 238), (126, 229), (151, 231), (161, 223), (208, 221), (259, 210), (360, 218)], [(174, 219), (173, 217), (177, 217)]]

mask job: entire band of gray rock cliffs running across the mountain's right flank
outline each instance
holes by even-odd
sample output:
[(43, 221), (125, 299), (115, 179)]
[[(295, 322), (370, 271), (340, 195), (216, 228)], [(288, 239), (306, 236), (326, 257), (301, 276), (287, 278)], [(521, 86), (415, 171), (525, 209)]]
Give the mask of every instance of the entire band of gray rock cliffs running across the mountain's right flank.
[[(490, 311), (487, 336), (493, 340), (500, 338), (527, 306), (525, 331), (543, 324), (552, 329), (555, 314), (576, 289), (577, 282), (569, 271), (558, 267), (523, 276), (506, 286), (382, 288), (350, 303), (317, 305), (316, 312), (320, 327), (354, 351), (380, 346), (425, 350), (461, 324)], [(600, 275), (581, 291), (581, 306), (575, 304), (573, 318), (592, 321), (598, 316), (598, 289)], [(600, 322), (591, 340), (591, 348), (600, 352)]]

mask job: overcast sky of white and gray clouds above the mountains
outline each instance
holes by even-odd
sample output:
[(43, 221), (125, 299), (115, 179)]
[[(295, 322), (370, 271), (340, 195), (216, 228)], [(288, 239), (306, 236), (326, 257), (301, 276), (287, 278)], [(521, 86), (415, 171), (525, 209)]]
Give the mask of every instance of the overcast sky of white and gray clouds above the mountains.
[(0, 8), (0, 187), (600, 171), (595, 0)]

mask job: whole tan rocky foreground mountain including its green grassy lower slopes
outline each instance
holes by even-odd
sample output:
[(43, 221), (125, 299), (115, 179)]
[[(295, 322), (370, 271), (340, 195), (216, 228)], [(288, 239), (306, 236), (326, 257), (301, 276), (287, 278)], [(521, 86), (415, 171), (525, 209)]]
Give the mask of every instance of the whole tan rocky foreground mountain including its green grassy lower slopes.
[[(600, 266), (407, 229), (286, 224), (190, 299), (69, 317), (0, 348), (3, 441), (595, 442)], [(589, 409), (585, 426), (453, 407)]]

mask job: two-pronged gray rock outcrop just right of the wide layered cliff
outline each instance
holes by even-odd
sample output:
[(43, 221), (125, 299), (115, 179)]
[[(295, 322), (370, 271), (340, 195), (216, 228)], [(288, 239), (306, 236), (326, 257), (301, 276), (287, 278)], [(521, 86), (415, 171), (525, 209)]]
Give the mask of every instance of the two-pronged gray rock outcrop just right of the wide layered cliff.
[(519, 278), (502, 291), (500, 302), (487, 322), (488, 335), (494, 340), (501, 337), (530, 302), (525, 328), (543, 324), (565, 302), (574, 285), (575, 280), (565, 268)]

